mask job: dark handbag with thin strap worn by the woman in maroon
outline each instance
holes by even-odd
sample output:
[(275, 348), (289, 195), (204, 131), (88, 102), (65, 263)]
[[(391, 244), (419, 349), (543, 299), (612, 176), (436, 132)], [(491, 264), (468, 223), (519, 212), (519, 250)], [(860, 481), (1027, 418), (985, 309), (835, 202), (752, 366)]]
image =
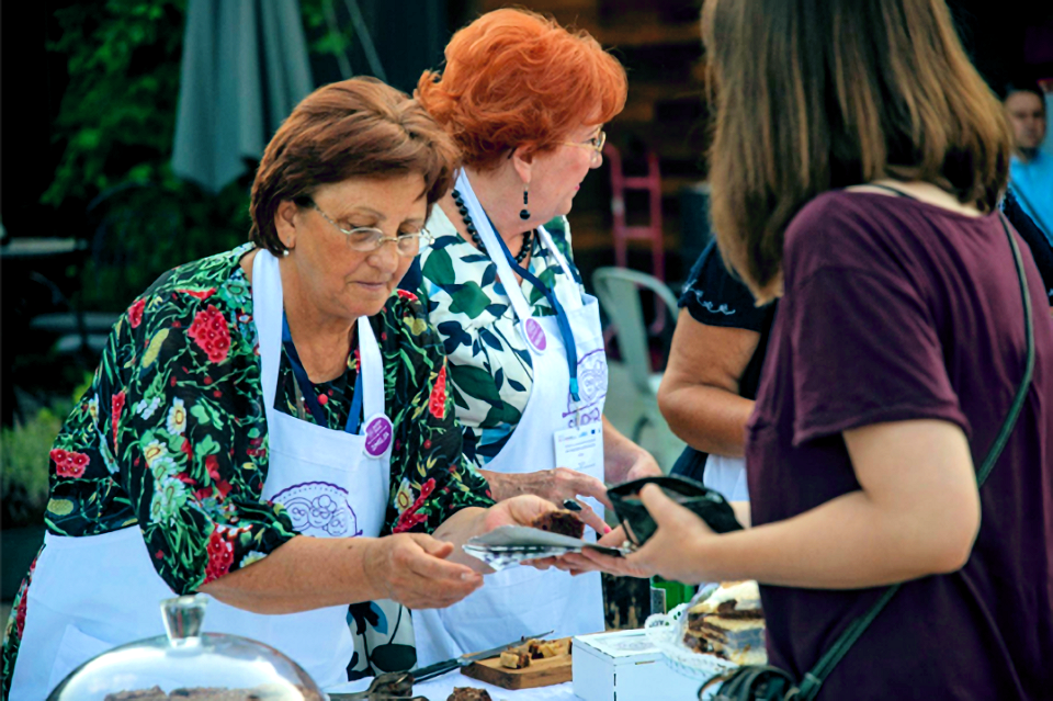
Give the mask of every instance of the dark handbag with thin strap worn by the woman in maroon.
[[(1001, 430), (995, 438), (995, 442), (992, 444), (990, 450), (987, 451), (987, 456), (976, 472), (976, 483), (981, 487), (984, 486), (987, 476), (995, 466), (995, 462), (998, 460), (1003, 449), (1006, 446), (1006, 442), (1009, 440), (1009, 434), (1012, 432), (1012, 428), (1017, 423), (1017, 418), (1020, 416), (1020, 409), (1023, 408), (1023, 403), (1027, 399), (1028, 388), (1031, 385), (1031, 376), (1034, 372), (1034, 329), (1032, 327), (1031, 295), (1028, 294), (1028, 279), (1023, 271), (1023, 259), (1020, 257), (1020, 249), (1017, 247), (1017, 241), (1012, 238), (1012, 234), (1009, 231), (1005, 218), (1001, 219), (1001, 226), (1006, 230), (1006, 236), (1009, 238), (1009, 246), (1012, 247), (1012, 257), (1017, 264), (1017, 276), (1020, 280), (1020, 294), (1023, 297), (1024, 332), (1028, 339), (1028, 355), (1023, 377), (1020, 381), (1020, 386), (1017, 388), (1012, 406), (1009, 408), (1009, 412), (1001, 425)], [(896, 596), (901, 586), (903, 585), (897, 584), (885, 589), (881, 598), (874, 602), (867, 613), (852, 621), (845, 632), (841, 633), (841, 636), (824, 653), (815, 667), (804, 676), (800, 685), (795, 683), (793, 677), (783, 669), (768, 665), (750, 665), (711, 677), (702, 685), (702, 688), (699, 689), (699, 699), (702, 699), (702, 694), (706, 689), (721, 683), (721, 688), (714, 694), (713, 701), (790, 701), (791, 699), (793, 701), (812, 701), (819, 692), (823, 682), (829, 676), (830, 671), (834, 670), (834, 667), (841, 662), (841, 658), (851, 649), (856, 641), (859, 640), (859, 636), (862, 635), (871, 622), (878, 618), (878, 614), (881, 613), (888, 601)]]

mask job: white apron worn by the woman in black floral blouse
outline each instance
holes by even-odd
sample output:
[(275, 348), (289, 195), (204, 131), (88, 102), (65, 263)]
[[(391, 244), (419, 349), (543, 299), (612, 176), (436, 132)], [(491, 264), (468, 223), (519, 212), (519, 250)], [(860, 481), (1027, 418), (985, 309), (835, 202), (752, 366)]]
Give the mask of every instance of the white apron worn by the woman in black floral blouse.
[[(274, 409), (282, 348), (278, 260), (259, 251), (252, 302), (267, 411), (269, 466), (263, 498), (288, 510), (297, 532), (316, 538), (377, 536), (387, 509), (390, 440), (330, 430)], [(380, 348), (358, 323), (364, 415), (384, 414)], [(369, 427), (366, 420), (363, 426)], [(388, 432), (389, 437), (390, 433)], [(383, 437), (381, 437), (383, 439)], [(144, 637), (163, 635), (159, 602), (174, 596), (157, 574), (137, 527), (86, 538), (45, 536), (27, 591), (26, 621), (11, 701), (39, 701), (88, 659)], [(322, 688), (344, 683), (354, 648), (347, 606), (264, 615), (210, 600), (204, 630), (242, 635), (296, 660)]]

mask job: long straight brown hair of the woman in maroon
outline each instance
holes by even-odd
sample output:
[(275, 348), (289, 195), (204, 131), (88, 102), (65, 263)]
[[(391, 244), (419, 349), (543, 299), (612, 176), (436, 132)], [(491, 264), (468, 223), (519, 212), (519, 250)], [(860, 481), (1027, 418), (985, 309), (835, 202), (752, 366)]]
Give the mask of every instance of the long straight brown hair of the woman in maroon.
[(758, 301), (822, 192), (920, 180), (990, 212), (1005, 190), (1009, 125), (943, 0), (709, 0), (702, 34), (713, 225)]

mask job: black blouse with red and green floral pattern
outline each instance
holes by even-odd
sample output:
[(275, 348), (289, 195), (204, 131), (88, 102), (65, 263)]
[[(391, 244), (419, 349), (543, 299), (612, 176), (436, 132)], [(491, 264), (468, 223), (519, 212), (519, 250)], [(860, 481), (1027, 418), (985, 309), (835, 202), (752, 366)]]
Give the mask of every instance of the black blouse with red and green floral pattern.
[[(296, 535), (285, 509), (261, 499), (267, 420), (252, 294), (239, 267), (250, 250), (169, 271), (135, 301), (50, 452), (48, 530), (80, 536), (137, 524), (178, 593)], [(417, 297), (399, 291), (370, 321), (394, 425), (383, 532), (431, 532), (461, 508), (489, 506), (486, 482), (463, 459), (442, 348)], [(343, 429), (356, 372), (355, 351), (343, 376), (314, 385), (330, 429)], [(283, 351), (278, 408), (314, 421), (297, 412), (297, 393)], [(4, 635), (0, 699), (32, 617), (26, 584)]]

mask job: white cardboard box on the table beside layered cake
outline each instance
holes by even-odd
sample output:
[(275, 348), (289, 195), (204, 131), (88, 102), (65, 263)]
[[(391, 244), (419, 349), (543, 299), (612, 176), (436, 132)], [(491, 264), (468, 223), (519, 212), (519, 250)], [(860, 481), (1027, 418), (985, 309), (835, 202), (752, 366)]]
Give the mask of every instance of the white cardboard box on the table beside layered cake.
[(698, 701), (702, 686), (663, 662), (642, 630), (578, 635), (570, 659), (585, 701)]

